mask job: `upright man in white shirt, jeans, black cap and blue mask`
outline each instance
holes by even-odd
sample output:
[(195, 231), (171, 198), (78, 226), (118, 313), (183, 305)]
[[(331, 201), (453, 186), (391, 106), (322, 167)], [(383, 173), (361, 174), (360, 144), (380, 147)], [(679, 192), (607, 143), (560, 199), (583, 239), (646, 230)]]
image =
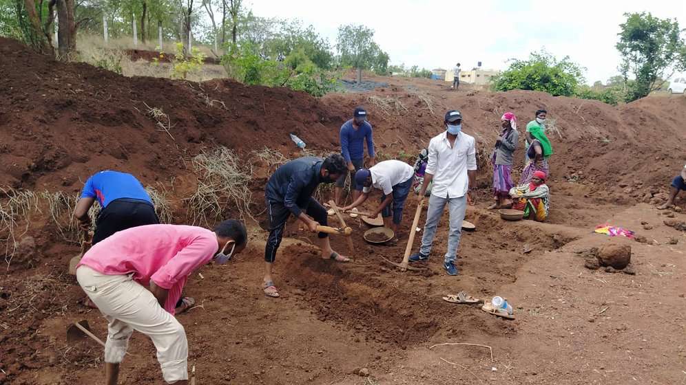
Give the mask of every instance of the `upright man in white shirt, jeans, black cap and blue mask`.
[[(461, 132), (462, 115), (459, 111), (448, 111), (444, 124), (446, 132), (431, 138), (428, 146), (428, 165), (422, 189), (419, 190), (419, 203), (424, 201), (426, 186), (431, 181), (433, 181), (433, 188), (426, 212), (422, 248), (417, 254), (410, 256), (410, 261), (428, 261), (438, 220), (448, 203), (450, 233), (443, 268), (449, 275), (456, 276), (455, 258), (461, 236), (462, 220), (467, 210), (467, 192), (470, 186), (472, 190), (476, 188), (477, 152), (474, 137)], [(474, 199), (472, 199), (473, 203), (475, 203)]]

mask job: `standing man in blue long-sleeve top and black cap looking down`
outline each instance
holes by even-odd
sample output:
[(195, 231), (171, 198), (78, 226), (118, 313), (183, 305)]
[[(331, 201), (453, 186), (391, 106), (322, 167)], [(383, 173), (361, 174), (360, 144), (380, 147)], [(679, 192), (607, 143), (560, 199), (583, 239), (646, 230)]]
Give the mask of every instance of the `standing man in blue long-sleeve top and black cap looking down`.
[[(367, 141), (368, 166), (374, 166), (374, 140), (372, 139), (371, 124), (366, 120), (367, 111), (362, 107), (357, 107), (353, 112), (353, 118), (341, 126), (341, 153), (348, 167), (336, 181), (333, 199), (336, 206), (340, 206), (348, 174), (354, 176), (355, 171), (364, 167), (364, 140)], [(353, 194), (353, 201), (356, 201), (360, 197), (362, 186), (357, 186), (354, 177), (350, 178), (350, 190)]]

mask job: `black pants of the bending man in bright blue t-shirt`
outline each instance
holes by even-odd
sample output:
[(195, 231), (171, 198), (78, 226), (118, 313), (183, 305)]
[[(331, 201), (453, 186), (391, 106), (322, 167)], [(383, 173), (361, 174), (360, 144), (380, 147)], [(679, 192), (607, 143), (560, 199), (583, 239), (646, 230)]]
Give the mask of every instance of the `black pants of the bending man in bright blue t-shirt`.
[(127, 228), (158, 223), (160, 220), (155, 213), (155, 208), (149, 201), (129, 198), (114, 199), (98, 214), (95, 221), (93, 244)]

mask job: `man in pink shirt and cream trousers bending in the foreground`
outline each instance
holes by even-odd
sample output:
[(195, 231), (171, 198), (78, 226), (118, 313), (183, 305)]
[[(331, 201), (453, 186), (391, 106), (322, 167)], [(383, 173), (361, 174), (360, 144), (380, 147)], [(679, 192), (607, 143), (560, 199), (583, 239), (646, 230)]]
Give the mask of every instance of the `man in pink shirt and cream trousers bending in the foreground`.
[(94, 245), (76, 279), (107, 325), (105, 384), (116, 385), (134, 330), (148, 336), (169, 384), (188, 383), (188, 342), (174, 307), (188, 276), (211, 259), (226, 263), (245, 249), (245, 226), (234, 219), (213, 231), (185, 225), (144, 225)]

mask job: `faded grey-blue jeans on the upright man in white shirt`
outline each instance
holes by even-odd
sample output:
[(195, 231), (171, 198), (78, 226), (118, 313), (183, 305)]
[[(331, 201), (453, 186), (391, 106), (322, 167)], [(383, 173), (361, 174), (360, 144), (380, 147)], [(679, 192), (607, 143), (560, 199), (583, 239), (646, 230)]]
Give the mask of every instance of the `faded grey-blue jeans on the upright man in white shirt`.
[(424, 255), (430, 254), (433, 236), (436, 234), (438, 221), (441, 219), (446, 203), (450, 205), (450, 233), (448, 233), (446, 262), (455, 262), (457, 247), (459, 246), (459, 239), (462, 234), (462, 220), (467, 211), (466, 194), (459, 198), (441, 198), (433, 194), (429, 197), (429, 207), (426, 210), (426, 225), (424, 225), (424, 235), (422, 236), (422, 248), (419, 249), (419, 252)]

